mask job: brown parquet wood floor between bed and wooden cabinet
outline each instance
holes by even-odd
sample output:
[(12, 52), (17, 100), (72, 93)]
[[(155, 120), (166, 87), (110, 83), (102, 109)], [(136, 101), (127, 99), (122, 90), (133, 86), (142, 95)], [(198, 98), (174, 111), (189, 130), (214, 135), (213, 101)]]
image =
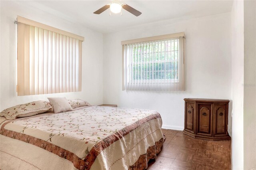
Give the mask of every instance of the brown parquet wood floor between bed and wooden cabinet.
[(166, 140), (148, 170), (230, 170), (231, 140), (195, 139), (179, 130), (162, 129)]

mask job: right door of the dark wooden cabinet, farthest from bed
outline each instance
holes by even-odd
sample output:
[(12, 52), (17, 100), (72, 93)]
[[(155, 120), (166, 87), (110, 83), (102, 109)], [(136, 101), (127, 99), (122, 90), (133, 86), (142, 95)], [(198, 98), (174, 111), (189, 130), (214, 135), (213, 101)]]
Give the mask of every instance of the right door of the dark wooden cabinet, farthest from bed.
[(214, 135), (227, 133), (227, 104), (214, 105)]

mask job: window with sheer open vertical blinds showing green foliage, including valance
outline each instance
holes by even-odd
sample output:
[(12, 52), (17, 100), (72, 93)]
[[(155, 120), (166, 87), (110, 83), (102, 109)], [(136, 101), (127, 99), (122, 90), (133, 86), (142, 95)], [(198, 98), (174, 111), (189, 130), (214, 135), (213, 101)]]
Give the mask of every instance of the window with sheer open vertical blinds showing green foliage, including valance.
[(123, 90), (184, 91), (184, 33), (122, 42)]

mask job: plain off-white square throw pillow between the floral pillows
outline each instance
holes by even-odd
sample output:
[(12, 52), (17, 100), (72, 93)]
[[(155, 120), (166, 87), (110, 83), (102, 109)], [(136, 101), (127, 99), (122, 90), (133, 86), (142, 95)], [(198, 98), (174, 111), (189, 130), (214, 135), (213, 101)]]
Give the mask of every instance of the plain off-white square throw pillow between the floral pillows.
[(52, 103), (54, 113), (73, 110), (66, 97), (48, 97), (48, 100)]

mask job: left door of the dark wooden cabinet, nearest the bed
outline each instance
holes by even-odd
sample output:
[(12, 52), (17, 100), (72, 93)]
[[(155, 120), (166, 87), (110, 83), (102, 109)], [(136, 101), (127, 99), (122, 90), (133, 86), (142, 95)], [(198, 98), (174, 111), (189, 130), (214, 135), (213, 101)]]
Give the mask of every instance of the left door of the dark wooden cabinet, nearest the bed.
[(194, 108), (195, 103), (185, 103), (185, 129), (194, 133)]

